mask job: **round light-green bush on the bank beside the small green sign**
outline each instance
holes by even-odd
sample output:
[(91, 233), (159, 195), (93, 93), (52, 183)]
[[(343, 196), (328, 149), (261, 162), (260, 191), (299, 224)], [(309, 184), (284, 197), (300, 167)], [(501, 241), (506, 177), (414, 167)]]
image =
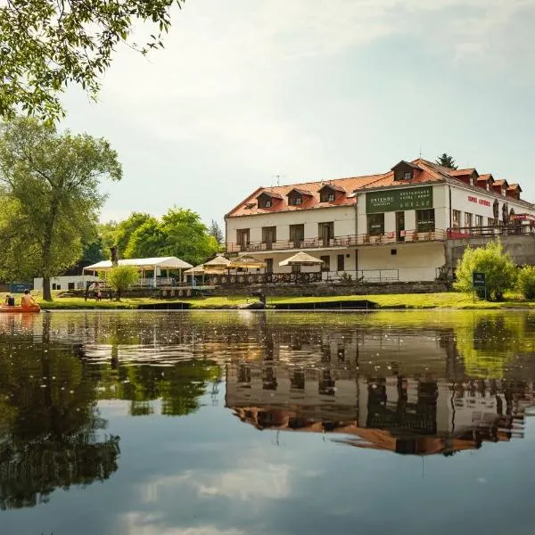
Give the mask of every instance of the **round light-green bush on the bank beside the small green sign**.
[[(488, 300), (501, 300), (504, 292), (516, 284), (516, 268), (511, 257), (504, 252), (501, 243), (487, 243), (485, 247), (467, 247), (463, 258), (457, 263), (456, 290), (472, 292), (472, 274), (480, 271), (485, 274)], [(484, 296), (484, 289), (478, 292)]]

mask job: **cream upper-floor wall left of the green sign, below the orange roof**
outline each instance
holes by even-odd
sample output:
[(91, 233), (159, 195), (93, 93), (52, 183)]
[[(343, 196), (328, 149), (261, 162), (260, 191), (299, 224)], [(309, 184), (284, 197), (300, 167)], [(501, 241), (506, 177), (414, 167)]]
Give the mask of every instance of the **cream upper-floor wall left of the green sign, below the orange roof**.
[(318, 237), (318, 223), (334, 222), (334, 235), (355, 235), (355, 206), (332, 206), (312, 210), (272, 212), (258, 216), (226, 219), (226, 243), (236, 243), (236, 230), (250, 229), (251, 242), (262, 241), (262, 227), (276, 226), (276, 239), (290, 239), (290, 225), (305, 226), (305, 239)]

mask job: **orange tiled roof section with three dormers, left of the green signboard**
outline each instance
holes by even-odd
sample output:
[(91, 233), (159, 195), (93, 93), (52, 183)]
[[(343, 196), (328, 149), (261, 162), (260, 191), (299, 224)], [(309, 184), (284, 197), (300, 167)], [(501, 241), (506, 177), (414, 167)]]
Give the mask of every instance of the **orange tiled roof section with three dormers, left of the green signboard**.
[[(327, 208), (330, 206), (344, 206), (344, 205), (353, 205), (356, 203), (354, 197), (348, 196), (342, 192), (347, 192), (350, 194), (354, 190), (361, 189), (364, 185), (371, 184), (376, 180), (383, 178), (384, 175), (371, 175), (366, 177), (350, 177), (350, 178), (337, 178), (334, 180), (321, 180), (317, 182), (303, 182), (301, 184), (290, 184), (290, 185), (276, 185), (273, 187), (260, 187), (254, 193), (252, 193), (247, 199), (243, 202), (240, 202), (235, 209), (231, 210), (226, 214), (229, 218), (235, 218), (239, 216), (253, 216), (257, 214), (268, 214), (271, 212), (281, 212), (281, 211), (293, 211), (293, 210), (306, 210), (306, 209), (317, 209), (317, 208)], [(319, 190), (325, 185), (334, 186), (333, 189), (338, 191), (339, 195), (336, 195), (333, 202), (320, 202), (319, 200)], [(303, 202), (297, 206), (289, 205), (286, 199), (288, 193), (292, 190), (298, 190), (301, 192), (312, 193), (311, 196), (305, 196)], [(273, 206), (270, 208), (259, 208), (255, 200), (262, 193), (275, 194), (276, 196), (282, 196), (283, 199), (278, 202), (274, 202)], [(251, 208), (247, 208), (250, 206)]]

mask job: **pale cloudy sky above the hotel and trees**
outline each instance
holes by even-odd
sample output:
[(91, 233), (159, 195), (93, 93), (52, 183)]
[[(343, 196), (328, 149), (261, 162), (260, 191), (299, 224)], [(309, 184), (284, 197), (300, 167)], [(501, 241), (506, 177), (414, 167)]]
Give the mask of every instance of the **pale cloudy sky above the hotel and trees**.
[(420, 152), (532, 202), (534, 25), (532, 0), (186, 0), (165, 50), (119, 48), (97, 103), (70, 88), (63, 126), (119, 152), (103, 221), (176, 205), (222, 224), (261, 185)]

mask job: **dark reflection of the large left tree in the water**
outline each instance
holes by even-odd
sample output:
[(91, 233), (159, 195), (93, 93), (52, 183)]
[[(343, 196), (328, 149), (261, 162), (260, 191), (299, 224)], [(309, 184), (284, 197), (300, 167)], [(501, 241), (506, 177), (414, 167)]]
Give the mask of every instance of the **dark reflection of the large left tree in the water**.
[[(0, 508), (35, 506), (57, 488), (117, 470), (119, 437), (105, 435), (95, 383), (72, 347), (19, 337), (0, 346)], [(22, 340), (21, 340), (22, 338)]]

